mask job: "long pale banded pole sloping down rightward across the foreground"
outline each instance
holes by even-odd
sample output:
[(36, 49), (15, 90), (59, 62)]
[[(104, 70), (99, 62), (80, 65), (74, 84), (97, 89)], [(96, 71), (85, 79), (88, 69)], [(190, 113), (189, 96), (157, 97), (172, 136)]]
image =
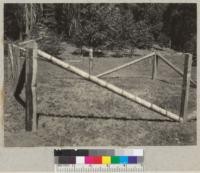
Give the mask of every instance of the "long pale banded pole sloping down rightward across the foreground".
[(55, 57), (47, 54), (46, 52), (38, 50), (38, 55), (40, 55), (41, 57), (49, 60), (53, 64), (55, 64), (55, 65), (57, 65), (59, 67), (62, 67), (63, 69), (68, 70), (68, 71), (70, 71), (72, 73), (75, 73), (75, 74), (83, 77), (84, 79), (87, 79), (87, 80), (89, 80), (89, 81), (91, 81), (91, 82), (93, 82), (93, 83), (95, 83), (95, 84), (97, 84), (97, 85), (99, 85), (99, 86), (101, 86), (103, 88), (106, 88), (106, 89), (108, 89), (108, 90), (110, 90), (110, 91), (112, 91), (112, 92), (114, 92), (114, 93), (126, 98), (126, 99), (129, 99), (129, 100), (131, 100), (131, 101), (133, 101), (135, 103), (138, 103), (138, 104), (140, 104), (140, 105), (142, 105), (142, 106), (144, 106), (144, 107), (146, 107), (146, 108), (148, 108), (150, 110), (153, 110), (153, 111), (155, 111), (157, 113), (160, 113), (160, 114), (162, 114), (162, 115), (164, 115), (164, 116), (166, 116), (168, 118), (171, 118), (173, 120), (182, 121), (182, 118), (180, 118), (178, 115), (176, 115), (176, 114), (174, 114), (174, 113), (172, 113), (170, 111), (167, 111), (167, 110), (165, 110), (165, 109), (163, 109), (163, 108), (161, 108), (161, 107), (159, 107), (159, 106), (157, 106), (155, 104), (152, 104), (152, 103), (150, 103), (150, 102), (148, 102), (146, 100), (143, 100), (143, 99), (141, 99), (141, 98), (139, 98), (139, 97), (137, 97), (137, 96), (135, 96), (135, 95), (133, 95), (133, 94), (121, 89), (121, 88), (116, 87), (113, 84), (110, 84), (110, 83), (108, 83), (108, 82), (106, 82), (106, 81), (104, 81), (102, 79), (99, 79), (96, 76), (92, 76), (92, 75), (82, 71), (81, 69), (79, 69), (77, 67), (69, 65), (68, 63), (63, 62), (63, 61), (59, 60), (58, 58), (55, 58)]

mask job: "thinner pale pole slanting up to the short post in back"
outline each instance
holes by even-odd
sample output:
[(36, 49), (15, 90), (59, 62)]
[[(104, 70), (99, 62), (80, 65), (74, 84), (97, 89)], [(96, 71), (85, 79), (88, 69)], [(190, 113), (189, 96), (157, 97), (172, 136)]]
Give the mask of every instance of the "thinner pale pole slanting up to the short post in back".
[(140, 61), (142, 61), (142, 60), (145, 60), (145, 59), (147, 59), (147, 58), (150, 58), (150, 57), (153, 56), (153, 55), (155, 55), (154, 52), (153, 52), (153, 53), (150, 53), (150, 54), (148, 54), (148, 55), (146, 55), (146, 56), (144, 56), (144, 57), (142, 57), (142, 58), (135, 59), (135, 60), (133, 60), (133, 61), (131, 61), (131, 62), (128, 62), (128, 63), (123, 64), (123, 65), (121, 65), (121, 66), (115, 67), (115, 68), (110, 69), (110, 70), (108, 70), (108, 71), (106, 71), (106, 72), (103, 72), (103, 73), (101, 73), (101, 74), (98, 74), (97, 77), (102, 77), (102, 76), (105, 76), (105, 75), (107, 75), (107, 74), (113, 73), (113, 72), (115, 72), (115, 71), (118, 71), (118, 70), (123, 69), (123, 68), (125, 68), (125, 67), (128, 67), (128, 66), (130, 66), (130, 65), (133, 65), (133, 64), (135, 64), (135, 63), (138, 63), (138, 62), (140, 62)]

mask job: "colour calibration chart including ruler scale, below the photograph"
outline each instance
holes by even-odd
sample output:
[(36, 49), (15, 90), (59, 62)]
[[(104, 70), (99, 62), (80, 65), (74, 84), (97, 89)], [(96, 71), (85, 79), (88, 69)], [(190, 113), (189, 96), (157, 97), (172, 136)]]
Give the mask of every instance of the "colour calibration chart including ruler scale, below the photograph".
[(143, 172), (143, 149), (54, 150), (56, 173)]

